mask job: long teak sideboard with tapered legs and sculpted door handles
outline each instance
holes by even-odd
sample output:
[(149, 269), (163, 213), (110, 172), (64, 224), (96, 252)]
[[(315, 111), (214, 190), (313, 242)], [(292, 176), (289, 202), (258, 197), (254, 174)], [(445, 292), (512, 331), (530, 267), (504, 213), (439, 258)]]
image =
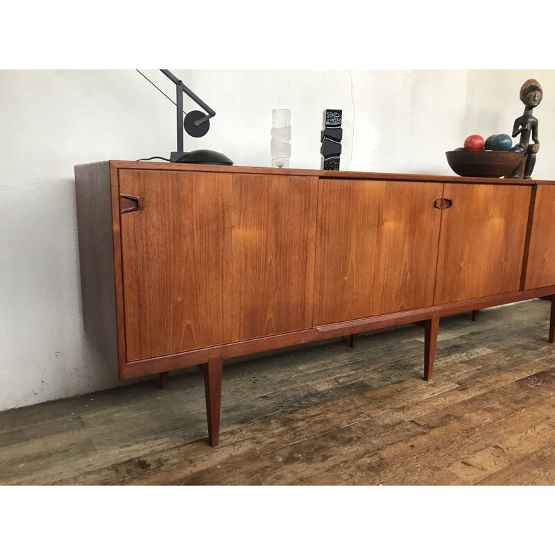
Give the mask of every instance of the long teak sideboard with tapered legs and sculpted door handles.
[(166, 162), (75, 167), (83, 319), (120, 379), (552, 299), (555, 182)]

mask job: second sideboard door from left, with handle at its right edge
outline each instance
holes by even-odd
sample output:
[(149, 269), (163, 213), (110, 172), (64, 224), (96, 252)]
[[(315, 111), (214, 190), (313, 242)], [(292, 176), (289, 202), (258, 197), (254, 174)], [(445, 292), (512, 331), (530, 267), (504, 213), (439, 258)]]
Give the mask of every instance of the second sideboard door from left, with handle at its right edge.
[(321, 180), (314, 325), (431, 306), (443, 184)]

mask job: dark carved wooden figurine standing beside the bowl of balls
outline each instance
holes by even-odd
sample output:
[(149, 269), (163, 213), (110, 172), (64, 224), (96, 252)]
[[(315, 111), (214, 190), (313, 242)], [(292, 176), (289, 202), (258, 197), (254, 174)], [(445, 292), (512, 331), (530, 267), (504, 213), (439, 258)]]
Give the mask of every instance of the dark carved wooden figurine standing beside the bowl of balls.
[[(520, 134), (520, 141), (517, 146), (522, 147), (524, 156), (522, 162), (513, 170), (513, 178), (531, 179), (532, 170), (536, 164), (536, 153), (540, 150), (538, 120), (533, 117), (532, 111), (542, 101), (542, 96), (542, 87), (536, 79), (529, 79), (520, 87), (520, 100), (524, 103), (525, 108), (524, 114), (515, 119), (513, 137)], [(529, 144), (530, 137), (533, 144)]]

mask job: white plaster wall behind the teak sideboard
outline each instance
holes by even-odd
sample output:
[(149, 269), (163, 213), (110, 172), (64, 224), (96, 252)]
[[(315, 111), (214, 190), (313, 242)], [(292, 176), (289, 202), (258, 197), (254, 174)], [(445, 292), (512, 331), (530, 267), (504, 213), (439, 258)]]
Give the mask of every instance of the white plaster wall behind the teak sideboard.
[[(544, 99), (533, 177), (555, 179), (553, 71), (172, 70), (216, 111), (185, 149), (269, 166), (271, 110), (291, 110), (291, 167), (320, 167), (325, 108), (343, 110), (341, 169), (452, 175), (444, 152), (511, 133), (520, 85)], [(173, 98), (173, 85), (144, 73)], [(83, 333), (74, 165), (167, 157), (175, 108), (134, 70), (0, 71), (0, 410), (121, 384)], [(185, 109), (197, 109), (192, 101)]]

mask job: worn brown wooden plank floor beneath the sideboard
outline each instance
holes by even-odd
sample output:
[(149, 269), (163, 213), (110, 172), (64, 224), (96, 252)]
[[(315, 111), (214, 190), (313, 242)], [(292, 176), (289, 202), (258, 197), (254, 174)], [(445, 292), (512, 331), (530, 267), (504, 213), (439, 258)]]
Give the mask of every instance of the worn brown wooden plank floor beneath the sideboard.
[(203, 378), (0, 413), (1, 484), (555, 484), (550, 303), (443, 318), (432, 382), (416, 325), (223, 369), (219, 447)]

